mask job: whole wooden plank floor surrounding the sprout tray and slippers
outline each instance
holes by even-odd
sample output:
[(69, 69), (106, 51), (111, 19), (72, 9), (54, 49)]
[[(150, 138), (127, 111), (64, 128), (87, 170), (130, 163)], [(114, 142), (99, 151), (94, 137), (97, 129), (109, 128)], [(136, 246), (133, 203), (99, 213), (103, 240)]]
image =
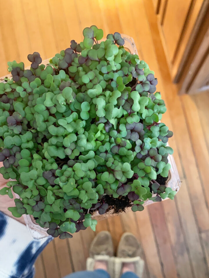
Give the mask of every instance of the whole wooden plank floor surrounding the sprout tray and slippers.
[[(125, 231), (143, 247), (143, 278), (209, 277), (209, 95), (178, 96), (159, 39), (151, 0), (0, 0), (0, 76), (7, 61), (24, 61), (38, 51), (43, 59), (81, 41), (84, 27), (95, 24), (105, 34), (132, 36), (139, 56), (158, 78), (167, 105), (163, 121), (174, 132), (170, 145), (182, 181), (174, 201), (166, 200), (98, 223), (115, 247)], [(95, 233), (51, 242), (37, 259), (35, 278), (64, 277), (85, 269)]]

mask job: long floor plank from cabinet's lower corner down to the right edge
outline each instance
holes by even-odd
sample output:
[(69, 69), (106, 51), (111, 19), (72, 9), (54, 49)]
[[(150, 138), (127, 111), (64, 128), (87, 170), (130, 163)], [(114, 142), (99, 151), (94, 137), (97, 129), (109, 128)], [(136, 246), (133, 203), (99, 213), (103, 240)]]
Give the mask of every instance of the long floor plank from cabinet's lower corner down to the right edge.
[[(190, 134), (188, 132), (187, 123), (181, 109), (181, 102), (176, 95), (176, 91), (169, 86), (170, 93), (167, 94), (167, 108), (172, 117), (173, 131), (175, 140), (178, 145), (181, 161), (184, 167), (185, 174), (189, 183), (189, 193), (192, 203), (194, 204), (194, 213), (197, 216), (197, 222), (201, 231), (209, 228), (209, 214), (206, 206), (204, 193), (201, 185), (200, 176), (197, 170), (196, 159), (193, 154), (193, 147), (190, 142)], [(165, 89), (168, 89), (165, 87)], [(178, 113), (176, 111), (178, 110)], [(183, 135), (183, 138), (182, 138)], [(188, 167), (189, 165), (189, 167)]]

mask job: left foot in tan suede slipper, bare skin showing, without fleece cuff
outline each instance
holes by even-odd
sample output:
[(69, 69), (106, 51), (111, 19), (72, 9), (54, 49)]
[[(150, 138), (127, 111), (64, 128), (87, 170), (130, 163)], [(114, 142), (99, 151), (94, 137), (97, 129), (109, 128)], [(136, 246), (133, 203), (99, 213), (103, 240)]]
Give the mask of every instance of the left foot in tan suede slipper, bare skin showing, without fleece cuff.
[[(89, 248), (89, 256), (94, 257), (96, 255), (106, 255), (112, 257), (114, 254), (112, 237), (108, 231), (102, 231), (96, 235), (91, 242)], [(94, 269), (107, 270), (106, 260), (96, 260)]]

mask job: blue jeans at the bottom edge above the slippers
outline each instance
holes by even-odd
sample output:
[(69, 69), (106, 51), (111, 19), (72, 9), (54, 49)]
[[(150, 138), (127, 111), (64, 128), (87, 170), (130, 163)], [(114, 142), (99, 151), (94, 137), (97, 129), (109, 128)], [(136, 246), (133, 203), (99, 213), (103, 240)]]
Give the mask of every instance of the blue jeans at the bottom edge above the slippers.
[[(78, 271), (71, 273), (64, 278), (110, 278), (109, 273), (103, 269), (97, 269), (94, 271)], [(125, 272), (120, 278), (139, 278), (133, 272)]]

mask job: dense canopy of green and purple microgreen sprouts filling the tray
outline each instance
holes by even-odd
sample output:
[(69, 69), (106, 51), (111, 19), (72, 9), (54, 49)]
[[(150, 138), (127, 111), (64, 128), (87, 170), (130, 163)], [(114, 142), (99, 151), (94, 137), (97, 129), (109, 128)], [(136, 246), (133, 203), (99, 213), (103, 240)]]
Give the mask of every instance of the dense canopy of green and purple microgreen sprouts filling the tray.
[(12, 79), (0, 83), (0, 173), (16, 180), (0, 193), (12, 198), (13, 188), (13, 215), (33, 215), (60, 238), (95, 230), (89, 211), (105, 213), (105, 195), (127, 196), (141, 211), (176, 193), (156, 182), (168, 176), (173, 133), (159, 122), (166, 107), (154, 72), (118, 32), (100, 43), (94, 25), (83, 35), (48, 65), (38, 52), (30, 69), (9, 62)]

